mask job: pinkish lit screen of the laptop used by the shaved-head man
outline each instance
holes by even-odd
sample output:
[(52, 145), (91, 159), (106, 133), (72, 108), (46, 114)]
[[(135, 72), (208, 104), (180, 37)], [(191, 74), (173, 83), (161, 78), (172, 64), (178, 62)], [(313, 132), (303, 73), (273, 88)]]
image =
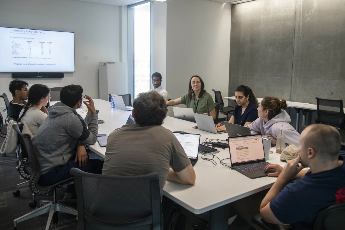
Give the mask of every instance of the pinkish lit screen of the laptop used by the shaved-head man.
[(229, 137), (231, 166), (265, 161), (261, 135)]

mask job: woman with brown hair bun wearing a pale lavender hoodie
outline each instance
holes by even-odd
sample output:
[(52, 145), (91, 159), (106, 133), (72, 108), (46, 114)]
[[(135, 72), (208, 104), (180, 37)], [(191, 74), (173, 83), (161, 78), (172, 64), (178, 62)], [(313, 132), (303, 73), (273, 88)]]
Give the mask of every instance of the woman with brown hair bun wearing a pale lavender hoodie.
[(276, 97), (265, 97), (258, 110), (258, 116), (252, 124), (247, 125), (252, 134), (262, 134), (272, 139), (272, 144), (277, 143), (277, 135), (285, 134), (285, 146), (296, 145), (299, 147), (300, 134), (289, 123), (290, 116), (286, 113), (286, 101), (279, 101)]

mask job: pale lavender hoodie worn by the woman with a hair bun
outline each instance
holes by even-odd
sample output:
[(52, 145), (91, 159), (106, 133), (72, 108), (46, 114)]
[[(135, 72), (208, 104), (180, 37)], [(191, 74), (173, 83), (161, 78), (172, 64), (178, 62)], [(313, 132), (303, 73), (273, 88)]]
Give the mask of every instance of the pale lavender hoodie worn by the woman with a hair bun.
[(252, 124), (247, 125), (247, 127), (250, 128), (252, 134), (272, 135), (274, 138), (277, 138), (277, 135), (283, 130), (282, 133), (285, 134), (285, 147), (288, 145), (299, 147), (300, 134), (289, 124), (290, 121), (290, 116), (285, 110), (282, 110), (281, 113), (270, 119), (267, 123), (263, 118), (259, 117)]

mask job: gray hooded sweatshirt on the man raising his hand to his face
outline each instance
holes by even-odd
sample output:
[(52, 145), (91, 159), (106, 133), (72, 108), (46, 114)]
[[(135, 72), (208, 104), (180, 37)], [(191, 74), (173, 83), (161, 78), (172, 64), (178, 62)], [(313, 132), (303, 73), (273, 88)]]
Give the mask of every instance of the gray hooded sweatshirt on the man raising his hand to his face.
[(98, 134), (97, 114), (90, 116), (87, 128), (82, 117), (62, 102), (48, 108), (48, 112), (49, 115), (32, 138), (42, 175), (52, 168), (65, 165), (78, 142), (95, 144)]

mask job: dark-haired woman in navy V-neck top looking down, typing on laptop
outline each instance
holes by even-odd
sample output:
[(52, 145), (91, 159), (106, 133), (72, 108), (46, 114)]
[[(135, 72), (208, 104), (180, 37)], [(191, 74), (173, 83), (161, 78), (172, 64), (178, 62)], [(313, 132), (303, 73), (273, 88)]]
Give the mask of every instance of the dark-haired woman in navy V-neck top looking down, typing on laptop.
[[(245, 85), (240, 85), (235, 90), (236, 107), (229, 123), (247, 126), (258, 118), (258, 100), (253, 90)], [(222, 124), (216, 125), (217, 131), (226, 130)]]

